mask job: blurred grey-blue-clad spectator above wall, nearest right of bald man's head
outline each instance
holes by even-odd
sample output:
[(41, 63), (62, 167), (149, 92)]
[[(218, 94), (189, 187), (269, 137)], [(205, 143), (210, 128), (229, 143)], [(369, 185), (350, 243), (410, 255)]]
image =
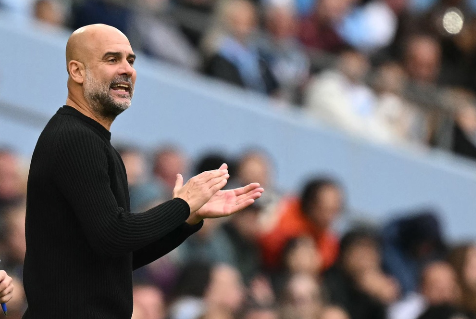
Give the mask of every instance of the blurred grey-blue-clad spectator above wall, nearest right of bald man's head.
[(170, 18), (170, 7), (170, 0), (141, 2), (132, 17), (132, 45), (155, 58), (198, 70), (200, 55)]

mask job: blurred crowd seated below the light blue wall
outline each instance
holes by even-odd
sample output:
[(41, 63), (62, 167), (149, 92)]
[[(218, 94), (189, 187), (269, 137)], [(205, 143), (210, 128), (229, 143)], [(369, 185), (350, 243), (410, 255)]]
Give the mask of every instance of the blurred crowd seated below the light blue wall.
[[(229, 164), (229, 188), (259, 182), (249, 208), (203, 228), (134, 272), (133, 319), (475, 319), (476, 242), (448, 242), (438, 212), (415, 210), (385, 223), (348, 221), (345, 185), (329, 175), (296, 194), (273, 181), (263, 150), (190, 158), (174, 145), (154, 152), (118, 145), (131, 210), (172, 197), (178, 172)], [(9, 317), (26, 307), (22, 287), (28, 162), (0, 149), (0, 267), (15, 279)]]

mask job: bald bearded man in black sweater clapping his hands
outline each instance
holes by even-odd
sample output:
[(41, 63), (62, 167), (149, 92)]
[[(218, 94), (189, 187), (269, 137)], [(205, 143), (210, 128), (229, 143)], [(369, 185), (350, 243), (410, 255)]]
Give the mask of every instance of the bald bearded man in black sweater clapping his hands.
[(130, 319), (132, 271), (260, 197), (257, 183), (220, 190), (227, 165), (183, 184), (173, 200), (130, 213), (124, 164), (110, 127), (131, 105), (135, 54), (119, 30), (90, 25), (66, 45), (68, 98), (32, 156), (27, 188), (23, 318)]

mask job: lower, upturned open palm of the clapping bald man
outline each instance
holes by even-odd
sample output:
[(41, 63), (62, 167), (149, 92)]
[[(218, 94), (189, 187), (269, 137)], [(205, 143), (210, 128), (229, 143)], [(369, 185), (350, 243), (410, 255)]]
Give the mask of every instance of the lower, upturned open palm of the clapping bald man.
[(234, 214), (254, 203), (263, 192), (258, 183), (251, 183), (245, 187), (219, 190), (197, 214), (201, 218), (219, 218)]

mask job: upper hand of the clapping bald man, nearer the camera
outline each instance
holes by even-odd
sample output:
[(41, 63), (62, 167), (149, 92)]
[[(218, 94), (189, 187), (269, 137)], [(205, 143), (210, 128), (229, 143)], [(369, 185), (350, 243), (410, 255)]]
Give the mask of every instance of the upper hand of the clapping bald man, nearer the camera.
[(182, 175), (177, 174), (173, 197), (187, 202), (190, 206), (190, 214), (193, 214), (226, 185), (229, 177), (226, 164), (220, 169), (206, 171), (190, 178), (185, 185), (183, 185)]

